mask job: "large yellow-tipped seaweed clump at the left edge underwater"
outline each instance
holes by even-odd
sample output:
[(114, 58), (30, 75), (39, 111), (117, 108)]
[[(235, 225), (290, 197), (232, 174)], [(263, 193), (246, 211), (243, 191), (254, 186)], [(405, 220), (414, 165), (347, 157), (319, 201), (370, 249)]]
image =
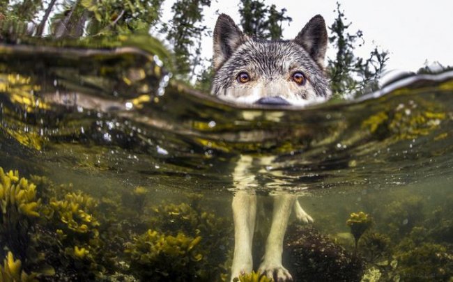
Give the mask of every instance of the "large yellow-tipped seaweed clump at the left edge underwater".
[(8, 261), (15, 253), (40, 281), (86, 281), (105, 272), (100, 223), (93, 216), (97, 201), (69, 191), (71, 185), (57, 189), (47, 178), (31, 179), (38, 185), (0, 168), (0, 247)]

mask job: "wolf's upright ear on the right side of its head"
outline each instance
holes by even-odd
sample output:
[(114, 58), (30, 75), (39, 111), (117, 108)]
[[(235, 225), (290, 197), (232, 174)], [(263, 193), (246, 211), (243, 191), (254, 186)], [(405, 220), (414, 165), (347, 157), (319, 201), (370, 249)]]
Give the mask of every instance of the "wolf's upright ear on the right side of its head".
[(327, 29), (324, 18), (316, 15), (305, 24), (294, 41), (308, 52), (314, 61), (324, 69), (324, 57), (327, 49)]

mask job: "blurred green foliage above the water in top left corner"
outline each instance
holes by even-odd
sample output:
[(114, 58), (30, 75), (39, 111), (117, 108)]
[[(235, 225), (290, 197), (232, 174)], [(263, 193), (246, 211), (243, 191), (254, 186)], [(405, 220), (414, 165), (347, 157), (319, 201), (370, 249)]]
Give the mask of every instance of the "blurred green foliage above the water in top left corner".
[[(148, 33), (160, 19), (160, 7), (164, 0), (41, 0), (0, 3), (4, 7), (2, 33), (12, 35), (43, 36), (50, 22), (50, 34), (54, 38), (80, 38), (82, 36)], [(61, 12), (57, 6), (63, 6)], [(45, 13), (41, 11), (45, 8)], [(49, 19), (49, 17), (52, 17)], [(6, 22), (9, 24), (6, 26)], [(29, 30), (11, 26), (29, 24)], [(86, 26), (86, 29), (85, 29)]]

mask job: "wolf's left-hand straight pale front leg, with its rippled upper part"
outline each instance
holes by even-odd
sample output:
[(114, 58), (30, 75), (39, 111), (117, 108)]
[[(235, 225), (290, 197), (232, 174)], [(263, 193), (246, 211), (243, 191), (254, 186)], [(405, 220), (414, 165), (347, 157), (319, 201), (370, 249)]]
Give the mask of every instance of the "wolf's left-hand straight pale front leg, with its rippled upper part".
[(253, 158), (241, 155), (233, 171), (233, 183), (238, 191), (231, 207), (234, 221), (234, 255), (231, 281), (240, 274), (252, 272), (252, 240), (256, 220), (256, 194), (254, 175), (249, 173)]

